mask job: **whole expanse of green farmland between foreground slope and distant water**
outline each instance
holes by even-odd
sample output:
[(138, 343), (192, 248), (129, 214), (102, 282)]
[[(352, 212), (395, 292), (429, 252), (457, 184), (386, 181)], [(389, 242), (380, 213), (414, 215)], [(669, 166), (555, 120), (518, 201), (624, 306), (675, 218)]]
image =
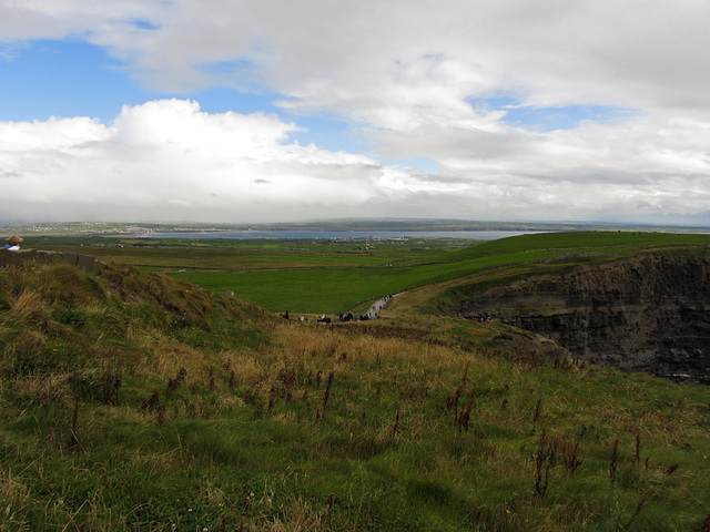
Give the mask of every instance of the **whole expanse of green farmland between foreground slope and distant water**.
[[(212, 291), (232, 290), (271, 311), (362, 311), (373, 300), (490, 270), (555, 272), (657, 249), (702, 253), (710, 235), (570, 232), (489, 242), (456, 239), (230, 241), (28, 238), (28, 246), (95, 254), (170, 272)], [(555, 262), (555, 257), (560, 259)], [(547, 259), (547, 263), (540, 260)], [(485, 277), (481, 275), (481, 278)]]

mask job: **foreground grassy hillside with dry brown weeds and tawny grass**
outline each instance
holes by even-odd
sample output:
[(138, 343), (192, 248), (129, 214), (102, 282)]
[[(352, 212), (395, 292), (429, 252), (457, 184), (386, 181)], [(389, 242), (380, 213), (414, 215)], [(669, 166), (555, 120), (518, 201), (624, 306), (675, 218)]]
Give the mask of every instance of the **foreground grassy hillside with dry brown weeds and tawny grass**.
[(707, 387), (503, 323), (302, 324), (30, 264), (0, 269), (0, 342), (2, 531), (710, 523)]

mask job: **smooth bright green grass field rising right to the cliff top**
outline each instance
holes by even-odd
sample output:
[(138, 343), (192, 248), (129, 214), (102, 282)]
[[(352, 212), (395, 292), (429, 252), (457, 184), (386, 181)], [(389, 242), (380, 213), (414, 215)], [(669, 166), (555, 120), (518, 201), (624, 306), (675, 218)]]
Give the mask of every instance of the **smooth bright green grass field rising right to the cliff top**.
[[(239, 297), (272, 311), (334, 314), (362, 309), (387, 294), (397, 294), (432, 283), (442, 283), (491, 268), (520, 268), (526, 273), (560, 270), (582, 262), (601, 262), (645, 253), (687, 250), (710, 244), (710, 235), (628, 233), (554, 233), (514, 237), (469, 245), (448, 253), (412, 256), (413, 265), (396, 262), (385, 266), (361, 263), (357, 267), (263, 269), (252, 272), (200, 272), (175, 274), (214, 291), (233, 290)], [(703, 248), (699, 248), (700, 253)], [(574, 255), (557, 264), (544, 259)], [(288, 263), (282, 263), (287, 267)]]

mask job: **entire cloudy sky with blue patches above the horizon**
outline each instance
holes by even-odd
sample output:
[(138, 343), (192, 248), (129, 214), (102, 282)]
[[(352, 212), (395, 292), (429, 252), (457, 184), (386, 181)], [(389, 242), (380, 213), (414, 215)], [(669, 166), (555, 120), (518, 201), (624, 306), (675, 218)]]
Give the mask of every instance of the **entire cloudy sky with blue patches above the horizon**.
[(0, 0), (0, 222), (710, 225), (710, 0)]

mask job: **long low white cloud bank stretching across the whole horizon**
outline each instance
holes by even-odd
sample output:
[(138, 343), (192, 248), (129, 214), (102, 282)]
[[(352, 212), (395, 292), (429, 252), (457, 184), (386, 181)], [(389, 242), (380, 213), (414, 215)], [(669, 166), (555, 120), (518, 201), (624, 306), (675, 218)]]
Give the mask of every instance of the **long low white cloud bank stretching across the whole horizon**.
[[(85, 117), (0, 123), (7, 219), (267, 222), (339, 216), (481, 219), (708, 218), (707, 123), (632, 116), (575, 130), (382, 132), (440, 170), (390, 166), (290, 139), (276, 115), (205, 113), (195, 101)], [(670, 140), (669, 140), (670, 139)], [(471, 155), (473, 154), (473, 155)]]

